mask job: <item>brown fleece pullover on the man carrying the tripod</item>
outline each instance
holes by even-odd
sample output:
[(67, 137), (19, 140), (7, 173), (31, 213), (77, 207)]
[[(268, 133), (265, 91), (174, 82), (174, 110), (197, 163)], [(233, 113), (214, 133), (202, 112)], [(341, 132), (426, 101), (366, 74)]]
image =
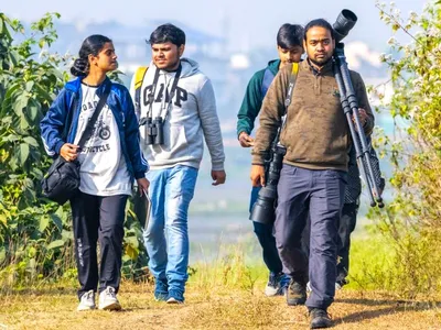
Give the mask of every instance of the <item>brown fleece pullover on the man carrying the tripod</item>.
[[(284, 66), (275, 77), (260, 110), (260, 128), (252, 150), (252, 164), (262, 165), (281, 117), (286, 112), (289, 78), (292, 67)], [(366, 133), (374, 128), (366, 88), (359, 74), (349, 72), (358, 107), (366, 110)], [(288, 108), (280, 143), (287, 147), (284, 163), (310, 169), (347, 170), (351, 132), (343, 112), (338, 86), (330, 61), (320, 72), (309, 61), (299, 66), (292, 101)]]

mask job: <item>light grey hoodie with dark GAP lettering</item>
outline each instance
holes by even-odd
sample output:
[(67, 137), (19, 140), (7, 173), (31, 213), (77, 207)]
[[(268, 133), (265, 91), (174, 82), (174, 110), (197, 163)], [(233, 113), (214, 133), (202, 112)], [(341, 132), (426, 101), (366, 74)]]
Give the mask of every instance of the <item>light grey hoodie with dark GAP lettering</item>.
[[(216, 99), (211, 80), (198, 69), (196, 62), (181, 58), (182, 72), (171, 106), (168, 108), (168, 96), (172, 89), (175, 72), (160, 70), (154, 101), (152, 106), (153, 119), (161, 112), (164, 144), (146, 144), (146, 130), (140, 127), (141, 148), (151, 169), (186, 165), (198, 168), (204, 152), (204, 142), (207, 144), (212, 169), (224, 169), (224, 145), (219, 120), (216, 113)], [(150, 94), (157, 67), (150, 63), (141, 86), (139, 119), (147, 116), (150, 106)], [(166, 87), (166, 97), (165, 88)], [(135, 75), (130, 85), (130, 94), (135, 100)], [(162, 109), (162, 111), (161, 111)], [(169, 109), (168, 111), (165, 109)]]

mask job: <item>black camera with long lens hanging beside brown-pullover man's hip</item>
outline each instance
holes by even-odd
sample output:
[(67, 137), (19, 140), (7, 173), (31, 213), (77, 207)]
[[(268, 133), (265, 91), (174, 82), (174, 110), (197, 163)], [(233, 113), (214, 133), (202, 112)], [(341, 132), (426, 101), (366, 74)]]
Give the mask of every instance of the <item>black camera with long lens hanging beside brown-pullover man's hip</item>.
[[(278, 139), (277, 139), (278, 140)], [(275, 141), (276, 142), (276, 141)], [(249, 220), (271, 224), (276, 220), (277, 185), (280, 178), (280, 169), (287, 148), (281, 144), (273, 144), (270, 157), (265, 161), (266, 185), (259, 191), (257, 200), (252, 206)]]

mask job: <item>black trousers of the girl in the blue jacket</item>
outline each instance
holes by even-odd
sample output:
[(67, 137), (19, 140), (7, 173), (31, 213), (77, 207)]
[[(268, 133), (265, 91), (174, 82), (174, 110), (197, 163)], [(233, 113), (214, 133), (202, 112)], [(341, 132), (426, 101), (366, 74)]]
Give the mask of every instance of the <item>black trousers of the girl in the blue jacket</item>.
[(96, 292), (98, 279), (99, 292), (111, 286), (118, 293), (127, 198), (127, 195), (101, 197), (78, 193), (71, 199), (75, 257), (80, 285), (78, 298), (88, 290)]

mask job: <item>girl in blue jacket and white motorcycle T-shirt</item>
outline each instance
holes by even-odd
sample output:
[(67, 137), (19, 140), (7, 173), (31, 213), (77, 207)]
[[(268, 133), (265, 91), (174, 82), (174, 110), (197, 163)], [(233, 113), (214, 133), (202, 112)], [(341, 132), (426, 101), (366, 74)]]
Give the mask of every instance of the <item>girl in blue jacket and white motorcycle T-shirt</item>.
[[(133, 179), (140, 194), (147, 191), (148, 169), (139, 144), (138, 120), (126, 87), (106, 74), (118, 67), (111, 40), (90, 35), (79, 50), (71, 73), (78, 77), (60, 91), (41, 121), (41, 133), (50, 155), (80, 164), (79, 193), (71, 199), (78, 268), (78, 310), (95, 308), (99, 282), (99, 309), (117, 310), (120, 283), (123, 220)], [(107, 101), (89, 139), (78, 141), (105, 90)], [(98, 272), (97, 241), (100, 265)], [(98, 275), (99, 273), (99, 275)]]

